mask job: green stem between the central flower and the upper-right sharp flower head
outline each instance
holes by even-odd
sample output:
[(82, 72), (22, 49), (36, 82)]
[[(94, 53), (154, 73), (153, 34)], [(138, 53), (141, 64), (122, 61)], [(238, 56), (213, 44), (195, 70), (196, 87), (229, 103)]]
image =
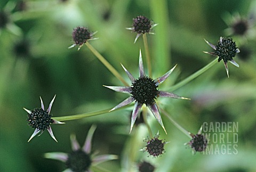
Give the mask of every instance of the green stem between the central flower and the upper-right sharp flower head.
[(183, 79), (182, 81), (180, 81), (178, 84), (175, 84), (173, 86), (171, 86), (168, 90), (169, 91), (174, 91), (175, 89), (178, 89), (180, 87), (182, 87), (183, 85), (186, 85), (187, 83), (189, 83), (191, 80), (195, 79), (196, 77), (198, 77), (199, 75), (201, 75), (202, 73), (204, 73), (206, 70), (210, 69), (211, 67), (213, 67), (214, 64), (216, 64), (218, 62), (218, 58), (214, 59), (212, 62), (210, 62), (209, 64), (207, 64), (205, 67), (203, 67), (202, 69), (196, 71), (195, 73), (193, 73), (192, 75), (190, 75), (189, 77), (187, 77), (186, 79)]

